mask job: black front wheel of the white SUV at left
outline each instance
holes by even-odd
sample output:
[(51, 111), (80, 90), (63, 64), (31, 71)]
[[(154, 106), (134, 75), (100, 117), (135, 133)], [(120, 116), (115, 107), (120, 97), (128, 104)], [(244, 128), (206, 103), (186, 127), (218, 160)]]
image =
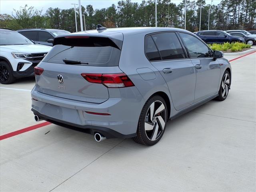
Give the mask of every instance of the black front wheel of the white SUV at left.
[(11, 84), (16, 80), (12, 68), (5, 61), (0, 61), (0, 83)]

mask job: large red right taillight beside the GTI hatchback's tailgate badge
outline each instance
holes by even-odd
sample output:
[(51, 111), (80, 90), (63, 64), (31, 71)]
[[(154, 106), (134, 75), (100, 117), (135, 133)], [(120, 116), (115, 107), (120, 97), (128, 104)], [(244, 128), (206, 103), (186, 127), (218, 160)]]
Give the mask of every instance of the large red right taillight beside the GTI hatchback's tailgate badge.
[(134, 84), (125, 73), (116, 74), (81, 74), (88, 82), (100, 83), (108, 88), (132, 87)]

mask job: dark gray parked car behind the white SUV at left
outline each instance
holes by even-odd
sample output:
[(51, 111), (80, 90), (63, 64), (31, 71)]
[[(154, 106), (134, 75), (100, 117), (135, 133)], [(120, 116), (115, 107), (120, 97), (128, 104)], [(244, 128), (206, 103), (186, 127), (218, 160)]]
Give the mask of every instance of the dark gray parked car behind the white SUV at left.
[(59, 29), (19, 29), (20, 34), (26, 36), (30, 40), (33, 40), (36, 44), (52, 46), (53, 39), (58, 35), (69, 34), (69, 31)]

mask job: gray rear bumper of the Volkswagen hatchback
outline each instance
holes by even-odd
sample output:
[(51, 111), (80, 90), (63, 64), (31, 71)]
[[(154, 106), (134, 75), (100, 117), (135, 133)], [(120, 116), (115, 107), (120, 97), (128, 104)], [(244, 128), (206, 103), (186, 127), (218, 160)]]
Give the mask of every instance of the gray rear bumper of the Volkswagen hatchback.
[[(110, 95), (116, 97), (95, 104), (51, 96), (34, 87), (31, 96), (37, 101), (32, 100), (32, 111), (54, 124), (90, 129), (91, 134), (99, 132), (106, 138), (136, 136), (144, 99), (136, 87), (111, 89)], [(88, 114), (86, 111), (110, 115)]]

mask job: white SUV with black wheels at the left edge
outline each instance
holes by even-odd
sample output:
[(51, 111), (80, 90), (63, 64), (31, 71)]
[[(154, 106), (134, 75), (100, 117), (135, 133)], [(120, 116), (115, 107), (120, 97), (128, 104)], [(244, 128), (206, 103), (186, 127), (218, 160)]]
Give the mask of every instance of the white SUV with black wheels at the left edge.
[(9, 29), (0, 29), (0, 83), (11, 84), (16, 78), (32, 76), (34, 67), (52, 47), (34, 44)]

